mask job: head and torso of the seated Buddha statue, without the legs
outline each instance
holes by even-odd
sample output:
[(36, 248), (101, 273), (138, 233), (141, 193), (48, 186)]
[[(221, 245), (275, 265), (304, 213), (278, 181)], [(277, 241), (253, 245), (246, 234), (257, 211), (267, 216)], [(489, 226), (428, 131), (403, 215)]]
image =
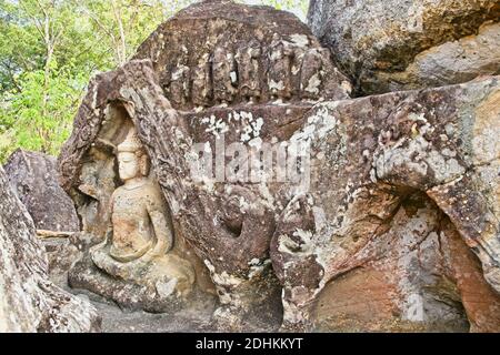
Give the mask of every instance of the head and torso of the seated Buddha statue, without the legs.
[(110, 255), (120, 262), (164, 255), (172, 246), (168, 210), (148, 178), (149, 158), (133, 131), (118, 145), (118, 166), (123, 185), (111, 197)]

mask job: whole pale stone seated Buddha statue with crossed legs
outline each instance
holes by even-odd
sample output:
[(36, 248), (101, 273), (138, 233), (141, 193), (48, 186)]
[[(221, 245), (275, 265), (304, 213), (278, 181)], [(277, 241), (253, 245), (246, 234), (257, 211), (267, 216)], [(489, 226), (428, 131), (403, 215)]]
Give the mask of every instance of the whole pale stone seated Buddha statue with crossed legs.
[(159, 185), (149, 178), (149, 156), (136, 130), (118, 145), (118, 170), (123, 185), (110, 203), (110, 225), (103, 243), (91, 250), (93, 263), (106, 273), (154, 287), (166, 294), (190, 292), (191, 264), (172, 251), (170, 214)]

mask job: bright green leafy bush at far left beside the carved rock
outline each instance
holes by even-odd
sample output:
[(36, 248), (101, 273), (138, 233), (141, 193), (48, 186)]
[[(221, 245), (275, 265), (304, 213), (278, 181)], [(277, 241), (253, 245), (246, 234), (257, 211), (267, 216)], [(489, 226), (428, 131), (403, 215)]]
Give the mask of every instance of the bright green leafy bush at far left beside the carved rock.
[(43, 70), (28, 71), (17, 78), (20, 90), (6, 94), (0, 116), (1, 160), (18, 146), (57, 155), (68, 139), (88, 77), (74, 73), (69, 64), (50, 65), (47, 85)]

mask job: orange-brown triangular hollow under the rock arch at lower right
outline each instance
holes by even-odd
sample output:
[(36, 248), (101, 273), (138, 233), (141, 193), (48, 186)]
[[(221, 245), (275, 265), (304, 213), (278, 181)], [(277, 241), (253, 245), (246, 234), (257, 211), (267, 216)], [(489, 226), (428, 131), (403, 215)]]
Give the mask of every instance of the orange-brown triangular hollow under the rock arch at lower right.
[(313, 307), (323, 331), (498, 332), (500, 296), (449, 219), (422, 193), (406, 197), (353, 267)]

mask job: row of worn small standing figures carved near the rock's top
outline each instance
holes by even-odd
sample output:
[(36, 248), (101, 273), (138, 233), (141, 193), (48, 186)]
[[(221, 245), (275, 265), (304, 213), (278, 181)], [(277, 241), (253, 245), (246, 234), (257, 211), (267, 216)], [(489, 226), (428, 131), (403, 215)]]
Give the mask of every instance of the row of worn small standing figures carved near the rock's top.
[(331, 94), (324, 82), (334, 70), (327, 64), (328, 49), (311, 45), (307, 38), (274, 33), (267, 44), (252, 39), (232, 48), (216, 45), (201, 54), (194, 68), (189, 68), (188, 50), (182, 49), (167, 74), (167, 97), (174, 108), (198, 110), (269, 100), (318, 101)]

